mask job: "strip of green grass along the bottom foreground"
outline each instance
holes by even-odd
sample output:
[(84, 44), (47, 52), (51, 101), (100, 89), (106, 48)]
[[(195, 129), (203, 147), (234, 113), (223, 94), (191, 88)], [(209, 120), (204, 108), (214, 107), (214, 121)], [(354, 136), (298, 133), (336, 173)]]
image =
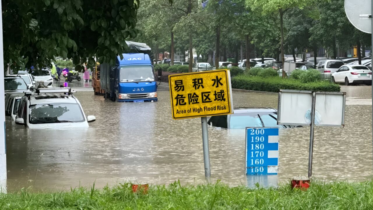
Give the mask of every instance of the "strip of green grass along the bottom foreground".
[(133, 193), (130, 183), (103, 189), (77, 188), (54, 193), (21, 192), (0, 195), (0, 209), (373, 209), (373, 182), (312, 182), (307, 191), (279, 188), (247, 189), (222, 183), (150, 186), (148, 194)]

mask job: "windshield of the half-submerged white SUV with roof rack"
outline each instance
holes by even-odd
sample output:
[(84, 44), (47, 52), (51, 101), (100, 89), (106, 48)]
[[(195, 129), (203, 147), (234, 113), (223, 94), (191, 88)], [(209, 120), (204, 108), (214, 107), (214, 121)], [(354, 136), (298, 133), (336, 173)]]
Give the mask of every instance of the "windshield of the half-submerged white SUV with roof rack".
[(30, 123), (66, 123), (84, 122), (84, 116), (78, 104), (50, 103), (30, 105)]

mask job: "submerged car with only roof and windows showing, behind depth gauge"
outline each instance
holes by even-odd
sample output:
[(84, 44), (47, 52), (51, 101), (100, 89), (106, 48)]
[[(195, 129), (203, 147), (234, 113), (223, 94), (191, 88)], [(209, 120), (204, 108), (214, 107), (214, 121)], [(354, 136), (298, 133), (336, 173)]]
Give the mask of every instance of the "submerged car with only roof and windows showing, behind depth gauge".
[(246, 127), (293, 127), (290, 125), (278, 125), (277, 110), (267, 107), (235, 108), (233, 114), (212, 116), (207, 124), (226, 129), (245, 129)]

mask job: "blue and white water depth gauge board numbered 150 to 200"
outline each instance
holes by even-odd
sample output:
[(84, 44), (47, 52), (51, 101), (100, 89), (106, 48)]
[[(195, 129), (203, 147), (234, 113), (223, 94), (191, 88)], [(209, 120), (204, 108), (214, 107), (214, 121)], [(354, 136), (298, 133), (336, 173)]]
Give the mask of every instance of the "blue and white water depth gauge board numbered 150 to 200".
[(277, 175), (278, 127), (246, 128), (246, 175)]

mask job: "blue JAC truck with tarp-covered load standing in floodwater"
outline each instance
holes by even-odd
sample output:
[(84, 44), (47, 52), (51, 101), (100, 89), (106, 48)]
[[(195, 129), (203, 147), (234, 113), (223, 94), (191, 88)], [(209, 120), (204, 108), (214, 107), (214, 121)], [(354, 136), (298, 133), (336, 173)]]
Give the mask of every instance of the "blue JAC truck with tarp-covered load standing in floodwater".
[(105, 99), (117, 102), (158, 101), (157, 83), (148, 53), (124, 53), (122, 56), (123, 59), (117, 56), (113, 65), (100, 65), (100, 85), (105, 90)]

